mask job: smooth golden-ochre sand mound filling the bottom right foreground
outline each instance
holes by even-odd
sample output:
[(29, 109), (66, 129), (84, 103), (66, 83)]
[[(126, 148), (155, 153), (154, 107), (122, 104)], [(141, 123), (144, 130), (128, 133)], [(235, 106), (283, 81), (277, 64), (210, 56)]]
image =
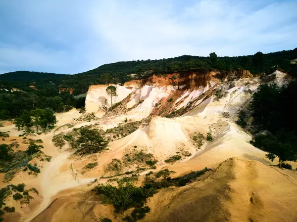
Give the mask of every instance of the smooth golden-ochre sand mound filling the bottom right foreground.
[(232, 158), (203, 182), (157, 193), (144, 221), (295, 222), (296, 204), (296, 180), (259, 162)]

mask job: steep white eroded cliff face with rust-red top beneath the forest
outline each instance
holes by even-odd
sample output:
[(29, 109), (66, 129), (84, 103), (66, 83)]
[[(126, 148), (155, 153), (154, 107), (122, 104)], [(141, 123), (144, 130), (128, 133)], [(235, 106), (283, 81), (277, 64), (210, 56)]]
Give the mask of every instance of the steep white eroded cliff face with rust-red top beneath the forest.
[[(148, 117), (156, 107), (167, 106), (164, 101), (169, 100), (170, 109), (181, 109), (196, 101), (201, 95), (215, 89), (221, 80), (250, 77), (247, 70), (232, 70), (229, 72), (211, 70), (183, 71), (173, 74), (153, 75), (144, 80), (132, 80), (123, 86), (115, 85), (117, 97), (113, 97), (112, 104), (122, 101), (129, 94), (130, 100), (125, 103), (127, 116), (143, 119)], [(97, 116), (105, 114), (111, 106), (110, 98), (106, 94), (107, 85), (96, 85), (89, 88), (86, 97), (86, 110)], [(163, 101), (163, 102), (161, 102)], [(162, 104), (161, 104), (162, 103)], [(162, 110), (159, 110), (162, 113)], [(167, 112), (167, 111), (165, 111)], [(154, 112), (159, 114), (159, 112)]]

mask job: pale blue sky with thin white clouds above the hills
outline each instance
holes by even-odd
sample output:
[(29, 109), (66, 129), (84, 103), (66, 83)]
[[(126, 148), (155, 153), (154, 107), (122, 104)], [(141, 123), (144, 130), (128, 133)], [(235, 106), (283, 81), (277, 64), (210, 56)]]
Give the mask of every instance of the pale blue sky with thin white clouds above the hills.
[(1, 0), (0, 74), (297, 47), (297, 0)]

